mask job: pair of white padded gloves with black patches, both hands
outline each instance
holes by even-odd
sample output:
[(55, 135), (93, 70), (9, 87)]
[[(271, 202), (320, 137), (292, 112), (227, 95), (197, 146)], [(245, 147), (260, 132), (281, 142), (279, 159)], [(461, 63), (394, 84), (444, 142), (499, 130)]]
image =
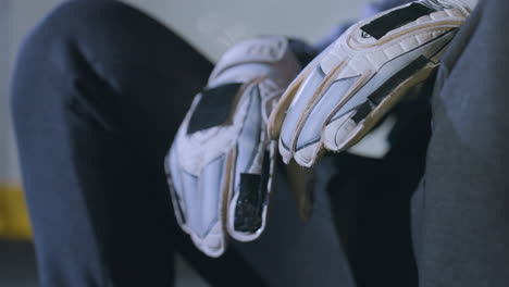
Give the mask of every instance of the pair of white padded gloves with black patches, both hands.
[(228, 237), (250, 241), (263, 233), (277, 150), (308, 216), (307, 173), (295, 166), (311, 167), (369, 133), (430, 77), (475, 4), (422, 0), (382, 12), (352, 25), (303, 70), (284, 37), (231, 48), (165, 160), (177, 221), (196, 247), (220, 257)]

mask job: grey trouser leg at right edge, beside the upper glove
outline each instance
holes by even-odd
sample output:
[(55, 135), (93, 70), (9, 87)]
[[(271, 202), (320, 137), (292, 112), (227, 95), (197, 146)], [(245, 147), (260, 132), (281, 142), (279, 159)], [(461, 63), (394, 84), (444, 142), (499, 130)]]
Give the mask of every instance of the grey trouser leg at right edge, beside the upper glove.
[(414, 199), (420, 286), (509, 283), (508, 12), (481, 1), (444, 58)]

